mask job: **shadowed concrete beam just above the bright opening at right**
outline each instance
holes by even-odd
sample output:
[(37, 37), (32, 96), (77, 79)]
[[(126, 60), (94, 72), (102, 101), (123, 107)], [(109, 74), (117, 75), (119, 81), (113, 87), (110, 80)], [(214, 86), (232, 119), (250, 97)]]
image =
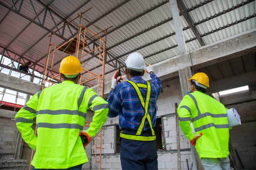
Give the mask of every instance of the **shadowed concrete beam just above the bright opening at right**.
[(256, 71), (239, 74), (224, 79), (215, 80), (210, 82), (210, 93), (228, 90), (231, 88), (238, 88), (244, 85), (252, 85), (256, 83)]

